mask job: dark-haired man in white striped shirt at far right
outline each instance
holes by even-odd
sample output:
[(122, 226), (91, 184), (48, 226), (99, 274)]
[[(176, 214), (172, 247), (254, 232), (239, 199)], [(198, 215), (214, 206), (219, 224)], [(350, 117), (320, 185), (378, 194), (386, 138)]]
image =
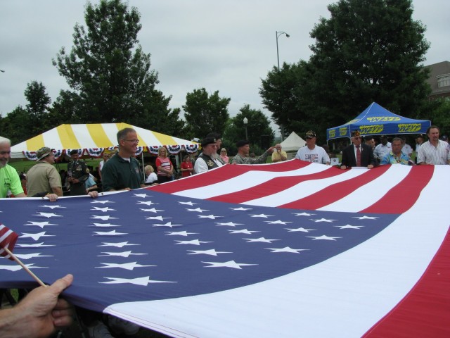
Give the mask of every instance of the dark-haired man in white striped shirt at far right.
[(449, 144), (439, 139), (439, 127), (432, 125), (427, 130), (428, 141), (418, 151), (418, 164), (450, 164)]

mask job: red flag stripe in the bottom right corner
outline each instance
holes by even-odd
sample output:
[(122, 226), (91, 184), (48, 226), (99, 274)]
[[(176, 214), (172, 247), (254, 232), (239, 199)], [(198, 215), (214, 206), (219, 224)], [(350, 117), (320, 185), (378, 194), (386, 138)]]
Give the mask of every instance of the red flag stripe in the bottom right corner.
[(409, 294), (363, 337), (450, 337), (449, 262), (450, 230)]

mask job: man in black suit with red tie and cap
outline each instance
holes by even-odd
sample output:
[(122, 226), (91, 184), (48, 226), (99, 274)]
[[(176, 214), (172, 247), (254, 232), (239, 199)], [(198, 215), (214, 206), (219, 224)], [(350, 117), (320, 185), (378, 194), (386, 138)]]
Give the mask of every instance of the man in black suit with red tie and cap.
[(361, 134), (359, 130), (352, 132), (352, 144), (342, 150), (342, 161), (340, 168), (367, 167), (372, 169), (375, 166), (373, 150), (367, 144), (361, 144)]

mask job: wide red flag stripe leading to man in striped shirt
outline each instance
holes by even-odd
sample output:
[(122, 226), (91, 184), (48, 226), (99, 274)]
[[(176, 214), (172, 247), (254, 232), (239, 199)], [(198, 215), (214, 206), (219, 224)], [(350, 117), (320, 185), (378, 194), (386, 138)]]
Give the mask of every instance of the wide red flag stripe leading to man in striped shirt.
[(420, 192), (430, 182), (434, 171), (434, 165), (417, 165), (411, 168), (409, 174), (399, 184), (361, 213), (404, 213), (416, 203)]

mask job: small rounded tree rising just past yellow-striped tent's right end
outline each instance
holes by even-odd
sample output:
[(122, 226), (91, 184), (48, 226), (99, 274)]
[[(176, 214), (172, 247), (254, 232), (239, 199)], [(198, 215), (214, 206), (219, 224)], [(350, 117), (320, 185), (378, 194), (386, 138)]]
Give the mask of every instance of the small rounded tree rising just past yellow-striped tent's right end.
[(221, 134), (229, 118), (230, 101), (229, 98), (220, 97), (219, 91), (208, 94), (205, 88), (194, 89), (186, 94), (183, 109), (189, 136), (202, 139), (210, 132)]

